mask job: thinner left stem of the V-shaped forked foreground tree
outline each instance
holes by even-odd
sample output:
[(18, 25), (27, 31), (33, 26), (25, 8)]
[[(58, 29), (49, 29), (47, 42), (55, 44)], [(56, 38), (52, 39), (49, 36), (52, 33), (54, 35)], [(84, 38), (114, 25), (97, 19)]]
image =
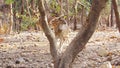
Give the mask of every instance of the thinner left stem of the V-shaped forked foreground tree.
[[(56, 43), (56, 39), (55, 39), (55, 35), (54, 33), (50, 30), (49, 26), (48, 26), (48, 21), (47, 21), (47, 16), (45, 13), (45, 7), (44, 7), (44, 0), (38, 0), (38, 9), (39, 12), (41, 14), (41, 22), (39, 22), (39, 24), (42, 26), (42, 29), (47, 37), (47, 39), (49, 40), (50, 43), (50, 52), (51, 55), (53, 57), (53, 61), (54, 61), (54, 67), (57, 68), (58, 66), (58, 53), (57, 53), (57, 43)], [(40, 19), (39, 19), (40, 21)]]

